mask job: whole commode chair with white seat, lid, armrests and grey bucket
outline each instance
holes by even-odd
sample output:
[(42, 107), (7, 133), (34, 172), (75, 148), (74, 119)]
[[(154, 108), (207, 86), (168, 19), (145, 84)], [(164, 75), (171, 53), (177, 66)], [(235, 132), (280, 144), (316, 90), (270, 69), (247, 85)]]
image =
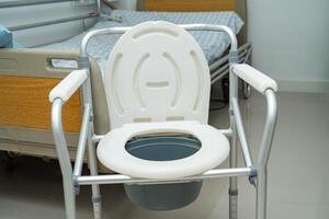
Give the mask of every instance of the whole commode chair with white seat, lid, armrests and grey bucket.
[[(229, 35), (230, 102), (228, 129), (207, 125), (211, 78), (204, 55), (188, 31)], [(103, 76), (111, 131), (93, 131), (87, 45), (91, 37), (124, 33), (111, 51)], [(67, 219), (76, 218), (80, 185), (92, 186), (94, 218), (101, 218), (100, 184), (124, 184), (128, 198), (152, 210), (192, 203), (202, 181), (229, 177), (229, 218), (237, 218), (237, 176), (257, 187), (257, 218), (266, 216), (266, 164), (276, 123), (275, 81), (248, 65), (237, 65), (237, 39), (226, 26), (146, 22), (134, 27), (89, 32), (81, 44), (80, 70), (49, 94), (52, 124), (63, 173)], [(265, 95), (268, 116), (258, 161), (252, 162), (238, 105), (238, 78)], [(61, 127), (61, 107), (82, 85), (84, 103), (75, 166)], [(239, 140), (246, 168), (237, 168)], [(81, 175), (88, 146), (90, 175)], [(216, 169), (229, 155), (229, 169)], [(97, 161), (115, 172), (99, 175)]]

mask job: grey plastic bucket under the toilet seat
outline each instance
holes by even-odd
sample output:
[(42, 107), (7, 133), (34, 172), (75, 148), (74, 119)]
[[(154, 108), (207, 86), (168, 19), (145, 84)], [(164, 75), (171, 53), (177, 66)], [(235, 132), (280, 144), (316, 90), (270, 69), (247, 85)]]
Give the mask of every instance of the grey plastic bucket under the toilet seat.
[[(188, 158), (201, 148), (192, 137), (143, 137), (125, 146), (128, 153), (144, 160), (172, 161)], [(171, 184), (124, 185), (132, 203), (149, 210), (172, 210), (193, 203), (200, 194), (202, 181)]]

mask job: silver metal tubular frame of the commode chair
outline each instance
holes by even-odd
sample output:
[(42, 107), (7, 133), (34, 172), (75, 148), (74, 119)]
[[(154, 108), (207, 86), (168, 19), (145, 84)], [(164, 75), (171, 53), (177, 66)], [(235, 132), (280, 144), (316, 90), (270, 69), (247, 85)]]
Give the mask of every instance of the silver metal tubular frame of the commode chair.
[[(180, 183), (195, 180), (215, 178), (215, 177), (229, 177), (229, 218), (237, 219), (237, 176), (248, 175), (253, 177), (257, 186), (257, 219), (265, 219), (266, 216), (266, 165), (271, 152), (271, 145), (274, 135), (277, 106), (274, 91), (268, 89), (265, 92), (268, 101), (268, 116), (264, 127), (264, 132), (261, 141), (260, 153), (258, 162), (254, 165), (251, 160), (250, 149), (243, 131), (242, 119), (238, 105), (238, 77), (232, 72), (231, 68), (234, 64), (238, 62), (238, 44), (235, 34), (227, 27), (222, 25), (208, 25), (208, 24), (189, 24), (180, 25), (188, 31), (217, 31), (226, 32), (230, 39), (231, 46), (229, 51), (229, 79), (230, 79), (230, 102), (229, 102), (229, 117), (230, 127), (228, 129), (220, 130), (230, 140), (230, 157), (229, 169), (209, 170), (201, 175), (171, 178), (171, 180), (148, 180), (148, 178), (132, 178), (122, 174), (98, 175), (97, 157), (95, 157), (95, 143), (100, 141), (103, 136), (98, 136), (93, 131), (93, 113), (92, 113), (92, 99), (91, 99), (91, 83), (90, 77), (82, 84), (82, 96), (84, 113), (81, 126), (81, 135), (79, 139), (77, 160), (75, 169), (72, 170), (67, 142), (61, 126), (61, 106), (65, 104), (59, 97), (55, 99), (52, 108), (52, 124), (53, 134), (56, 143), (56, 150), (58, 153), (58, 160), (63, 174), (65, 204), (66, 204), (66, 217), (67, 219), (76, 219), (76, 198), (75, 188), (78, 192), (79, 185), (92, 185), (92, 201), (94, 209), (94, 217), (101, 219), (101, 195), (100, 184), (159, 184), (159, 183)], [(81, 58), (80, 68), (89, 70), (89, 58), (87, 53), (88, 42), (95, 35), (104, 34), (122, 34), (128, 31), (131, 27), (112, 27), (104, 30), (91, 31), (82, 39), (81, 43)], [(246, 161), (246, 168), (237, 168), (237, 137), (241, 142), (242, 154)], [(82, 176), (81, 169), (83, 162), (83, 154), (86, 150), (86, 143), (88, 145), (89, 153), (89, 166), (91, 175)]]

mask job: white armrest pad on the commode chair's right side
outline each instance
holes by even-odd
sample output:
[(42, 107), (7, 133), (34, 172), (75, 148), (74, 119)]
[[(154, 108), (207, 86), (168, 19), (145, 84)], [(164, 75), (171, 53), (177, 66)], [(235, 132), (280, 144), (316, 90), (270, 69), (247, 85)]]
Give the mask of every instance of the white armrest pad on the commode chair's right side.
[(247, 64), (235, 65), (232, 72), (263, 94), (268, 89), (277, 91), (277, 84), (273, 79)]

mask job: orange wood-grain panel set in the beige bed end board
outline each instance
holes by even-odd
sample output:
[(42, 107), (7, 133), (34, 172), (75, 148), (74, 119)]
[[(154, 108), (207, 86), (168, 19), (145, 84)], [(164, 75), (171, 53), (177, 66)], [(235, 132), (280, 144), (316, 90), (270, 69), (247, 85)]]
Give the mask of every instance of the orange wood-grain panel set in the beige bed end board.
[[(0, 125), (50, 130), (48, 93), (59, 81), (54, 78), (0, 76)], [(65, 131), (79, 131), (79, 92), (65, 105), (63, 118)]]

